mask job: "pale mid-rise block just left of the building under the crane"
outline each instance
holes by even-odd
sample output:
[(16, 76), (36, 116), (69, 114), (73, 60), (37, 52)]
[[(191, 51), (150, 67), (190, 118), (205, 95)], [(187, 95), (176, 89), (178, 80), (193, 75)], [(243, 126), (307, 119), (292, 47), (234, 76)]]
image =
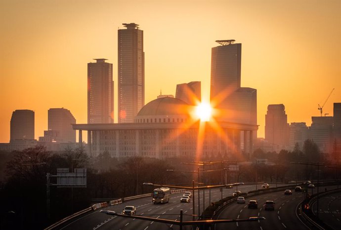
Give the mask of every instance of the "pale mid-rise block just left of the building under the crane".
[(292, 122), (289, 126), (289, 148), (294, 150), (296, 143), (300, 150), (303, 150), (303, 144), (309, 138), (309, 128), (305, 122)]

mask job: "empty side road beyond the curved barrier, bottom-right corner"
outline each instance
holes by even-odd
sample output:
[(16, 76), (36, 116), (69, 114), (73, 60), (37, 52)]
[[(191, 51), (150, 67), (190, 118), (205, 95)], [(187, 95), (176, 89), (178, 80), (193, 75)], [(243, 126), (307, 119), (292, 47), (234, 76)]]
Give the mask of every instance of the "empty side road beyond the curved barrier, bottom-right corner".
[[(316, 210), (316, 205), (317, 203), (315, 201), (312, 205), (313, 210)], [(341, 192), (332, 193), (319, 198), (319, 218), (331, 229), (340, 229)]]

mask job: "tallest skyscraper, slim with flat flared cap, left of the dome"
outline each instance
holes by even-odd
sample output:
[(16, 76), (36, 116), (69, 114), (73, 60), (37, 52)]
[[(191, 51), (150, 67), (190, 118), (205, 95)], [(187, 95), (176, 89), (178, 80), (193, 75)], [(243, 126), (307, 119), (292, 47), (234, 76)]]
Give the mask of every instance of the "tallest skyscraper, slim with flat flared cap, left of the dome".
[(131, 123), (144, 106), (143, 31), (135, 23), (118, 30), (118, 122)]

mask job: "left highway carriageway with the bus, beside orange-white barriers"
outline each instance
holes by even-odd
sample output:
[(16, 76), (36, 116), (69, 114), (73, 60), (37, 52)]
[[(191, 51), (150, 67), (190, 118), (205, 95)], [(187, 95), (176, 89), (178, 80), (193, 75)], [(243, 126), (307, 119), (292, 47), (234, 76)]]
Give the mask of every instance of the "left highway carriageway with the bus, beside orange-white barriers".
[[(259, 187), (259, 186), (258, 186)], [(248, 192), (255, 190), (255, 185), (238, 186), (241, 192)], [(223, 189), (223, 197), (232, 195), (236, 190)], [(102, 208), (103, 210), (110, 210), (121, 213), (126, 205), (133, 205), (136, 207), (136, 215), (153, 217), (158, 219), (179, 220), (180, 209), (183, 210), (183, 221), (192, 221), (193, 200), (190, 203), (180, 203), (182, 193), (171, 194), (169, 203), (153, 204), (152, 197), (145, 197), (125, 201), (122, 204), (108, 206)], [(211, 190), (211, 202), (221, 199), (221, 192), (219, 189)], [(205, 207), (209, 205), (209, 191), (205, 191)], [(203, 191), (200, 191), (200, 212), (203, 212)], [(124, 217), (115, 217), (99, 213), (98, 209), (94, 212), (88, 213), (85, 216), (74, 220), (66, 226), (58, 228), (60, 230), (169, 230), (170, 228), (178, 229), (177, 226), (171, 226), (164, 223), (142, 221), (137, 219), (130, 219)], [(195, 214), (198, 214), (198, 192), (195, 192)], [(190, 229), (189, 226), (183, 229)]]

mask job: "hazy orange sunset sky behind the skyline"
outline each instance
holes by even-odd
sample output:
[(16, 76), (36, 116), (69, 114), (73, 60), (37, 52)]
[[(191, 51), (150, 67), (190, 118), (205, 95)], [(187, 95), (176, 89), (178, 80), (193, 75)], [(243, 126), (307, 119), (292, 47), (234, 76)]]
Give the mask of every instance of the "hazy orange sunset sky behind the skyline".
[[(242, 43), (242, 87), (257, 89), (258, 137), (267, 105), (288, 122), (311, 124), (341, 102), (341, 0), (0, 0), (0, 142), (14, 110), (35, 111), (35, 137), (47, 110), (87, 121), (87, 63), (113, 63), (117, 122), (117, 30), (144, 31), (146, 103), (201, 81), (209, 97), (215, 40)], [(86, 135), (85, 135), (86, 136)]]

